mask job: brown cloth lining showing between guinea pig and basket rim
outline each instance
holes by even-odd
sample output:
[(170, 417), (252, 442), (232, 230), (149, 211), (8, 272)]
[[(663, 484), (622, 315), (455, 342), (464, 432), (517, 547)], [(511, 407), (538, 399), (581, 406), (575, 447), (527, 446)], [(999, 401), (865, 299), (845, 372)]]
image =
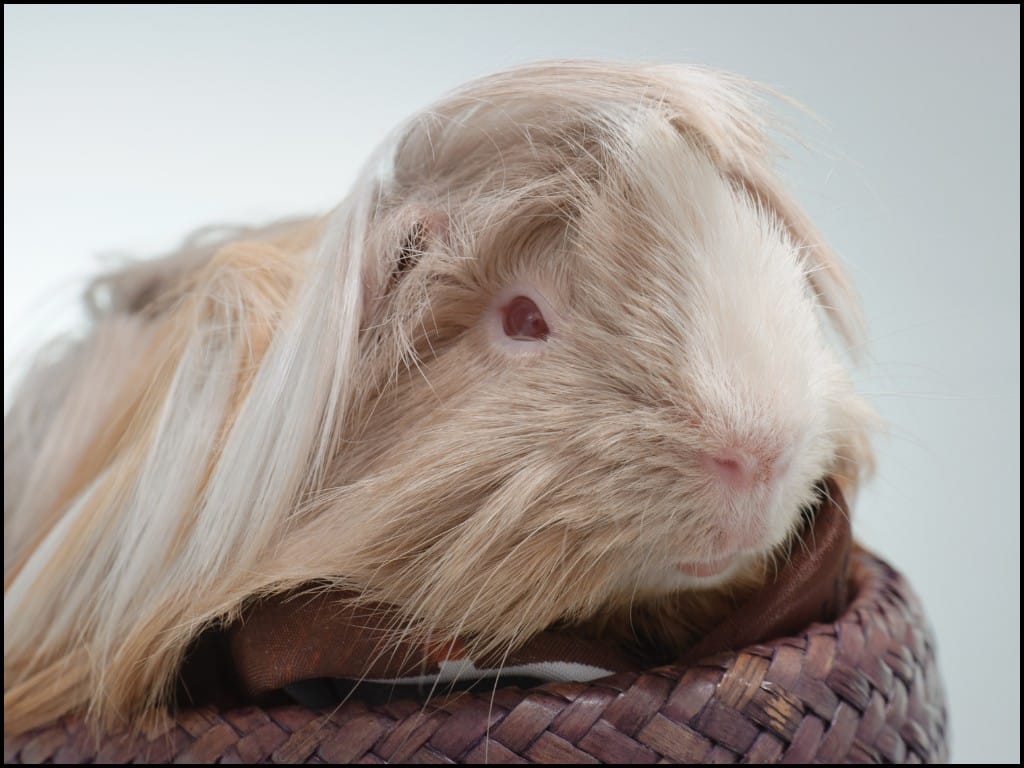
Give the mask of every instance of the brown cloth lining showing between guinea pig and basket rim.
[[(850, 543), (846, 505), (838, 486), (829, 482), (788, 564), (684, 660), (742, 648), (835, 618), (846, 607)], [(458, 640), (395, 643), (391, 628), (396, 612), (386, 605), (353, 607), (351, 597), (351, 593), (337, 591), (307, 592), (254, 606), (228, 635), (228, 652), (243, 693), (259, 696), (311, 678), (395, 679), (434, 674), (441, 660), (464, 656)], [(627, 654), (570, 630), (541, 633), (505, 659), (474, 659), (479, 669), (534, 662), (577, 662), (609, 672), (638, 669)]]

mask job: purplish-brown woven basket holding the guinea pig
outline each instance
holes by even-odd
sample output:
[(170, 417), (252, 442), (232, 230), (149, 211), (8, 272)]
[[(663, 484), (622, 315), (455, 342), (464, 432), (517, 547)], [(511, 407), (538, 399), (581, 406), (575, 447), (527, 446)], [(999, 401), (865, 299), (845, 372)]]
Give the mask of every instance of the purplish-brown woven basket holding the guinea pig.
[(935, 646), (906, 581), (856, 551), (856, 597), (835, 624), (690, 666), (590, 684), (188, 710), (97, 741), (83, 723), (5, 740), (8, 763), (942, 762)]

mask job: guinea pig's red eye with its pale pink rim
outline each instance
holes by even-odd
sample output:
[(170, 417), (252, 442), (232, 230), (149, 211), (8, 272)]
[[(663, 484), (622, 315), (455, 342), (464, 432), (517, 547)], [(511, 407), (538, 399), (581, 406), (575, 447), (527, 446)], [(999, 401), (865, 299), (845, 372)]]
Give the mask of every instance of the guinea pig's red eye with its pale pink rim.
[(512, 356), (542, 354), (564, 333), (561, 313), (541, 291), (527, 283), (502, 290), (487, 306), (482, 322), (489, 342)]

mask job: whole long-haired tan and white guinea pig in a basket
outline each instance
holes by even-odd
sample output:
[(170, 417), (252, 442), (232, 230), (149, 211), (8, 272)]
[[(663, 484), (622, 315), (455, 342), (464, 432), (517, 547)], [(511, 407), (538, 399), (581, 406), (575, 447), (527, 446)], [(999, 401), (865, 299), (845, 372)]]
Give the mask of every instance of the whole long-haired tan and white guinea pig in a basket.
[(854, 296), (757, 93), (516, 69), (328, 216), (98, 280), (5, 419), (6, 728), (162, 705), (201, 631), (310, 583), (489, 650), (658, 606), (691, 642), (869, 463)]

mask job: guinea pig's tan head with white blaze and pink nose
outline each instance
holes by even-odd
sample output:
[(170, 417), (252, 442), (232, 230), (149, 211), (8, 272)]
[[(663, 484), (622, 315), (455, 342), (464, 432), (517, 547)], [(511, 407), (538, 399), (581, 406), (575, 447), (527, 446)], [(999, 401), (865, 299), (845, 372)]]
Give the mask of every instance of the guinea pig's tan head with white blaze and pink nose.
[(855, 322), (846, 284), (745, 98), (538, 68), (404, 129), (321, 513), (367, 594), (511, 641), (756, 582), (820, 480), (852, 485), (866, 412), (826, 332)]

